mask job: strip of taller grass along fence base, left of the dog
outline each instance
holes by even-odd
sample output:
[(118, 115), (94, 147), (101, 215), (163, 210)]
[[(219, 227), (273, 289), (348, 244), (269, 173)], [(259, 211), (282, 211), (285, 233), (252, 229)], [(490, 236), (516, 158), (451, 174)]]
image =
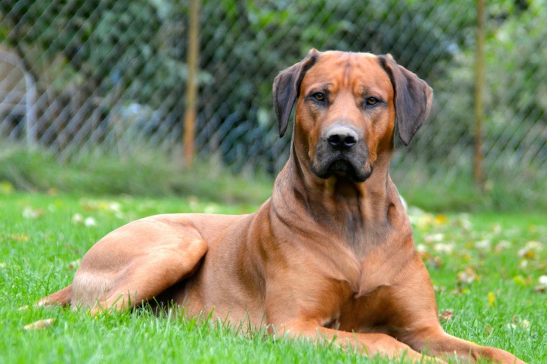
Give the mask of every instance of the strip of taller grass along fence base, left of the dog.
[[(60, 164), (51, 153), (10, 147), (0, 152), (2, 190), (65, 192), (74, 195), (195, 196), (200, 199), (262, 203), (271, 179), (259, 173), (235, 176), (211, 163), (192, 170), (157, 151), (141, 151), (120, 161), (116, 155), (80, 156)], [(13, 186), (13, 187), (11, 187)]]

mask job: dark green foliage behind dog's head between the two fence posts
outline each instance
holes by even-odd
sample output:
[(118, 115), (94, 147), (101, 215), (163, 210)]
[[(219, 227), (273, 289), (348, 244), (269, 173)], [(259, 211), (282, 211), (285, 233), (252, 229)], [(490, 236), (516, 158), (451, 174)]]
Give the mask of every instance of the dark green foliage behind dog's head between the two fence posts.
[(472, 32), (474, 15), (461, 10), (466, 7), (473, 2), (205, 1), (201, 63), (215, 82), (201, 91), (203, 125), (241, 129), (226, 139), (246, 158), (224, 143), (215, 152), (229, 165), (267, 161), (272, 172), (280, 169), (275, 153), (288, 154), (288, 138), (277, 141), (271, 132), (271, 84), (311, 48), (391, 53), (429, 82), (441, 79), (453, 51), (465, 47)]

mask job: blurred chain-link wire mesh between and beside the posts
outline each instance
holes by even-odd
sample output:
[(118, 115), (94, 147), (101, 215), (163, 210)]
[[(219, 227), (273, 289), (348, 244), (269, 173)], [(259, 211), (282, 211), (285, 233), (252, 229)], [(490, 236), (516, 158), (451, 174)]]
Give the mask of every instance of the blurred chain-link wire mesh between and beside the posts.
[[(61, 159), (149, 148), (180, 156), (189, 5), (0, 0), (0, 141)], [(310, 48), (370, 51), (391, 53), (435, 90), (428, 122), (409, 148), (397, 147), (392, 174), (415, 184), (471, 176), (477, 19), (474, 0), (203, 0), (198, 158), (275, 173), (290, 140), (278, 138), (272, 111), (276, 74)], [(542, 0), (486, 5), (487, 184), (546, 187), (545, 24)]]

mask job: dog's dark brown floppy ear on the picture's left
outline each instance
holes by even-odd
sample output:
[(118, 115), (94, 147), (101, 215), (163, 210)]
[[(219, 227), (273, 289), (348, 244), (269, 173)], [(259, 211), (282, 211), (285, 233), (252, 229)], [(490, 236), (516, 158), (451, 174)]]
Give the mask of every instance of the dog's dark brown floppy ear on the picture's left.
[(319, 52), (311, 49), (300, 62), (281, 71), (274, 80), (274, 110), (279, 121), (279, 136), (287, 131), (290, 113), (293, 111), (294, 102), (300, 94), (300, 83), (306, 71), (317, 61)]

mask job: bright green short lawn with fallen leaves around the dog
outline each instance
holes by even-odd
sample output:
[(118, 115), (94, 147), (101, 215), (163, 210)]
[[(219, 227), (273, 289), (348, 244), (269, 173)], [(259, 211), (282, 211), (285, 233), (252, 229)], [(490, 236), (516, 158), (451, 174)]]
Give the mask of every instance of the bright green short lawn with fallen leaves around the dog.
[[(0, 362), (369, 362), (328, 343), (275, 341), (263, 332), (147, 311), (93, 318), (61, 308), (18, 309), (68, 285), (86, 250), (121, 224), (155, 213), (257, 207), (0, 192)], [(445, 329), (529, 363), (547, 362), (546, 216), (410, 212)], [(52, 327), (24, 330), (48, 318), (56, 319)]]

